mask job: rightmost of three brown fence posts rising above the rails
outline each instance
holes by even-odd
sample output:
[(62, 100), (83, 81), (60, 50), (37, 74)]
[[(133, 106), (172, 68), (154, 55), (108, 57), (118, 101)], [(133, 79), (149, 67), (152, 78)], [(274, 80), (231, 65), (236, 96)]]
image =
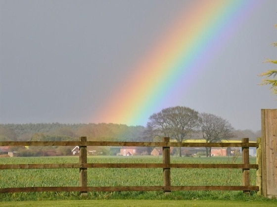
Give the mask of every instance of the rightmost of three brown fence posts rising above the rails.
[[(242, 138), (242, 143), (249, 143), (249, 138)], [(249, 147), (242, 147), (242, 164), (249, 165)], [(242, 185), (250, 186), (250, 169), (242, 169)], [(243, 193), (248, 193), (249, 190), (244, 190)]]

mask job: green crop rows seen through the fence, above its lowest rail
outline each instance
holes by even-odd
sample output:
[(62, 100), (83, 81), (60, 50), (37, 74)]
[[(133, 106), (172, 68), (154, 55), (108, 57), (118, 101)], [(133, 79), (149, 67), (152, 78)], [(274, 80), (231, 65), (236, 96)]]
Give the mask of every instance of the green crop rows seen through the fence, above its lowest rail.
[[(0, 158), (0, 164), (78, 163), (79, 157)], [(227, 157), (190, 158), (171, 157), (172, 163), (241, 163), (241, 159)], [(250, 158), (256, 163), (256, 158)], [(88, 163), (162, 163), (162, 157), (89, 157)], [(256, 170), (250, 170), (251, 185), (256, 185)], [(171, 169), (171, 184), (186, 185), (242, 185), (241, 169)], [(162, 169), (88, 169), (88, 186), (161, 186)], [(79, 169), (0, 170), (0, 188), (79, 186)]]

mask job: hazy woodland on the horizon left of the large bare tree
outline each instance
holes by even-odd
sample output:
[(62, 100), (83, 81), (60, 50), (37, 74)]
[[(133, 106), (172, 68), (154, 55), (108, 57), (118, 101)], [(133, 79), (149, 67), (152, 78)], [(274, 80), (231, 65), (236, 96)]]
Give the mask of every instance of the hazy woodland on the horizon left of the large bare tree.
[(0, 124), (0, 141), (88, 140), (136, 141), (143, 139), (144, 127), (123, 124)]

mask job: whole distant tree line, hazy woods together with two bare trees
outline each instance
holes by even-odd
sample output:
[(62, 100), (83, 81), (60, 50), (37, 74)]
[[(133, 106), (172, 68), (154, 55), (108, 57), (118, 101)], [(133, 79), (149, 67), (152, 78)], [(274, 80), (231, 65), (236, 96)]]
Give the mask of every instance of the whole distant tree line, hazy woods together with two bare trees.
[[(0, 141), (78, 141), (79, 137), (89, 141), (161, 141), (170, 137), (178, 142), (186, 139), (204, 139), (206, 142), (219, 142), (222, 139), (250, 138), (256, 140), (261, 132), (234, 130), (231, 124), (214, 114), (198, 113), (185, 107), (164, 108), (149, 117), (146, 127), (124, 124), (0, 124)], [(68, 155), (71, 147), (31, 147), (31, 150), (17, 147), (24, 156)], [(31, 154), (30, 154), (31, 153)], [(179, 149), (180, 156), (181, 149)], [(211, 149), (206, 149), (211, 155)], [(23, 155), (22, 155), (23, 156)]]

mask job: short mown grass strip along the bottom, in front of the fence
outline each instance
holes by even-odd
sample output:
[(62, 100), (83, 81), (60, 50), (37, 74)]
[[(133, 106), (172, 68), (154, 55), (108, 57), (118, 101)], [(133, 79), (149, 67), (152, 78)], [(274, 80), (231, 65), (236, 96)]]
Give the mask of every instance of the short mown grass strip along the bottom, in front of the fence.
[(272, 201), (71, 200), (0, 202), (1, 207), (276, 207)]

